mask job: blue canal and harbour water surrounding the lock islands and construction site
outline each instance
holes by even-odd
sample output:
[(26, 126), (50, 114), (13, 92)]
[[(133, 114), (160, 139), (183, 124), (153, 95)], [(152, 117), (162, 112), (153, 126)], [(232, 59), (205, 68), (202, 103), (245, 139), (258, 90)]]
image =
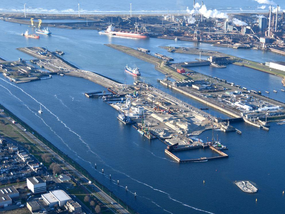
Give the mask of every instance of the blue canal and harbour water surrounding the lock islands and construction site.
[[(58, 48), (65, 52), (63, 58), (75, 66), (120, 82), (126, 79), (127, 83), (132, 83), (134, 78), (124, 72), (124, 66), (138, 66), (142, 73), (139, 80), (152, 83), (188, 103), (197, 104), (197, 107), (201, 105), (159, 85), (156, 79), (163, 78), (164, 75), (154, 70), (153, 65), (103, 45), (115, 43), (133, 48), (143, 47), (150, 49), (152, 53), (170, 55), (177, 61), (190, 61), (195, 58), (194, 55), (172, 54), (158, 46), (195, 47), (195, 43), (152, 38), (117, 38), (99, 35), (93, 30), (57, 28), (51, 29), (52, 36), (41, 36), (39, 40), (33, 40), (20, 36), (27, 26), (0, 22), (0, 28), (0, 57), (6, 60), (15, 60), (18, 57), (32, 59), (15, 50), (17, 47), (41, 46), (49, 50)], [(212, 48), (256, 61), (264, 62), (267, 58), (284, 61), (283, 57), (270, 52), (234, 51), (207, 44), (198, 44), (198, 47)], [(197, 69), (236, 84), (240, 79), (241, 84), (247, 88), (267, 91), (272, 90), (273, 86), (282, 88), (280, 78), (239, 66), (230, 65), (221, 70), (206, 66)], [(283, 212), (284, 126), (272, 123), (270, 131), (265, 131), (245, 123), (232, 124), (243, 134), (220, 131), (214, 133), (229, 148), (226, 151), (229, 158), (179, 164), (164, 153), (166, 145), (161, 141), (147, 140), (135, 128), (119, 122), (116, 118), (117, 112), (102, 100), (84, 96), (84, 92), (96, 90), (106, 89), (72, 76), (53, 75), (49, 80), (25, 84), (14, 84), (0, 76), (1, 104), (75, 159), (139, 213)], [(282, 93), (277, 93), (274, 98), (285, 101)], [(40, 104), (43, 113), (38, 115)], [(213, 112), (227, 117), (218, 111)], [(211, 135), (212, 130), (209, 130), (198, 138), (206, 140)], [(199, 154), (193, 153), (193, 156), (199, 157)], [(95, 163), (97, 170), (94, 168)], [(105, 175), (100, 173), (101, 169), (104, 169)], [(109, 174), (115, 181), (120, 181), (120, 186), (108, 178)], [(251, 180), (259, 191), (256, 194), (242, 192), (234, 184), (235, 180)], [(125, 186), (128, 186), (128, 192), (125, 191)], [(137, 193), (137, 198), (134, 198), (134, 192)], [(257, 203), (255, 198), (258, 199)]]

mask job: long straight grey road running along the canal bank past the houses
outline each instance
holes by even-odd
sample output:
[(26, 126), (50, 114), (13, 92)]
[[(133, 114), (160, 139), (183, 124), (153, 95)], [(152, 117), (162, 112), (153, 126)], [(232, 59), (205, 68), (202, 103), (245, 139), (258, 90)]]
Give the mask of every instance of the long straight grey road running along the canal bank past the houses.
[[(61, 163), (62, 165), (65, 165), (65, 167), (67, 169), (69, 169), (71, 172), (73, 172), (76, 175), (76, 178), (79, 178), (81, 180), (83, 180), (84, 182), (86, 182), (97, 194), (100, 194), (100, 196), (102, 198), (104, 198), (109, 204), (102, 202), (103, 204), (107, 205), (107, 207), (110, 207), (110, 210), (112, 210), (114, 213), (117, 213), (116, 211), (119, 211), (120, 213), (129, 213), (126, 209), (124, 209), (121, 205), (119, 205), (115, 200), (113, 200), (113, 198), (111, 198), (110, 196), (108, 196), (105, 192), (103, 192), (102, 190), (100, 190), (100, 188), (98, 186), (96, 186), (95, 184), (89, 184), (88, 183), (88, 179), (82, 175), (79, 171), (77, 171), (74, 167), (72, 167), (69, 163), (67, 163), (66, 161), (64, 161), (59, 155), (57, 155), (57, 153), (55, 153), (53, 150), (51, 150), (48, 146), (46, 146), (44, 143), (42, 143), (38, 138), (36, 138), (34, 135), (32, 135), (32, 133), (25, 131), (25, 128), (22, 127), (20, 124), (12, 123), (12, 119), (9, 118), (7, 115), (1, 113), (0, 114), (1, 117), (4, 117), (6, 119), (9, 119), (10, 123), (14, 126), (16, 126), (21, 133), (23, 134), (23, 136), (25, 136), (26, 138), (28, 138), (31, 142), (34, 142), (35, 145), (39, 146), (40, 149), (42, 151), (44, 151), (45, 153), (48, 153), (56, 162)], [(17, 141), (15, 141), (17, 142)], [(84, 186), (84, 185), (83, 185)], [(91, 192), (89, 189), (86, 188), (86, 190), (88, 190), (88, 192), (90, 192), (90, 194), (93, 194), (95, 196), (95, 194), (93, 192)], [(100, 199), (99, 199), (100, 200)], [(114, 208), (112, 208), (115, 207)]]

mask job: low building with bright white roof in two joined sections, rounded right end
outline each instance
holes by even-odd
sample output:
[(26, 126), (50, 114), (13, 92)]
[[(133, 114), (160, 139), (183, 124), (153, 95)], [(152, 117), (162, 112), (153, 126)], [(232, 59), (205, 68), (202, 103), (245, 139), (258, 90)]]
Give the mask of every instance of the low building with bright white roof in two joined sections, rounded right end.
[(53, 190), (49, 193), (42, 194), (42, 199), (49, 207), (53, 207), (56, 204), (59, 207), (62, 207), (67, 201), (71, 200), (71, 198), (63, 190)]

